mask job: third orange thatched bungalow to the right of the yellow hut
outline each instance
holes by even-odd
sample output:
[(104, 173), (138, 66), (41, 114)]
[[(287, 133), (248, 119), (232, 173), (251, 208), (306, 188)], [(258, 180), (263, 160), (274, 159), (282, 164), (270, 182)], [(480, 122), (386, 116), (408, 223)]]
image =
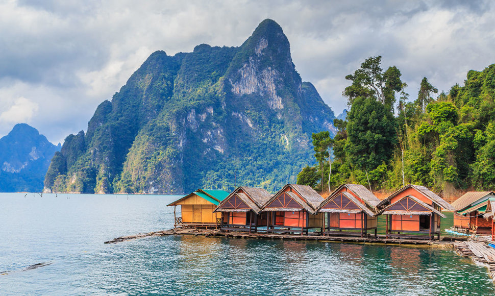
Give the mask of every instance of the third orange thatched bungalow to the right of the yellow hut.
[(379, 203), (380, 200), (363, 185), (344, 184), (316, 208), (316, 213), (327, 215), (328, 225), (323, 220), (324, 235), (339, 233), (363, 237), (374, 230), (376, 237)]

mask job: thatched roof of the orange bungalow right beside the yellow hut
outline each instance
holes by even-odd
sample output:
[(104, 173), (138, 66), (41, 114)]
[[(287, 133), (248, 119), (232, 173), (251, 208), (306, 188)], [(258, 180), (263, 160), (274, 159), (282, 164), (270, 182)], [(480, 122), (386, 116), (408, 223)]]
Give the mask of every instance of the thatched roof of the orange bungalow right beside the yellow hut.
[[(243, 191), (245, 193), (241, 193)], [(230, 209), (220, 208), (231, 198), (237, 196), (241, 201), (248, 205), (255, 213), (261, 211), (261, 207), (271, 198), (271, 194), (263, 188), (257, 187), (237, 187), (225, 200), (218, 204), (213, 212), (249, 212), (248, 209)]]

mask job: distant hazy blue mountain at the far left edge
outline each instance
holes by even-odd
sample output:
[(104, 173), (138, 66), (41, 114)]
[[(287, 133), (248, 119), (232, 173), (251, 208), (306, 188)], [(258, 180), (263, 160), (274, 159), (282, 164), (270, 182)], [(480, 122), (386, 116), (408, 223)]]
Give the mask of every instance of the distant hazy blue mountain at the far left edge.
[(0, 138), (0, 192), (41, 192), (50, 161), (60, 148), (35, 128), (15, 125)]

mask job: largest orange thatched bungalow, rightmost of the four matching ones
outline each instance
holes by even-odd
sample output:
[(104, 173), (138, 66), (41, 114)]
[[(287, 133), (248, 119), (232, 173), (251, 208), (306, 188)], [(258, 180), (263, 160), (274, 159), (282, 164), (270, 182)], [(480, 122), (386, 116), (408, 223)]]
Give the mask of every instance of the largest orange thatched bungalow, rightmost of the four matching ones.
[(407, 185), (388, 196), (377, 206), (378, 214), (387, 215), (386, 237), (440, 238), (442, 208), (454, 208), (424, 186)]

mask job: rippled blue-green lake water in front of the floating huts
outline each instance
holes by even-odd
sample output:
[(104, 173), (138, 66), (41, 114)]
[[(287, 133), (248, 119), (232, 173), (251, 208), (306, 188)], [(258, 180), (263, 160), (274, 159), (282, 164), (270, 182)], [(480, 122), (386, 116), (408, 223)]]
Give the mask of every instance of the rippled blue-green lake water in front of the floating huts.
[(436, 248), (201, 236), (103, 243), (171, 228), (175, 198), (0, 193), (0, 294), (495, 294), (485, 267)]

